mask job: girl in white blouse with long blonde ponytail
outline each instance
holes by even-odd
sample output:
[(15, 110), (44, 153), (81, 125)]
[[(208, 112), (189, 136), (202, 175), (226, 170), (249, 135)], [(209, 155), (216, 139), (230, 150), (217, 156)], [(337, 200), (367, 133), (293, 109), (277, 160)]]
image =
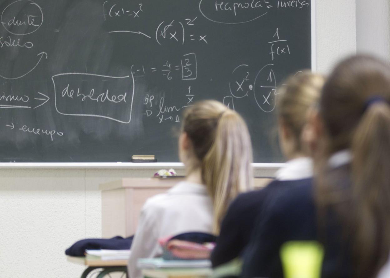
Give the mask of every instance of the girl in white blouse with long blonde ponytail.
[(131, 246), (128, 273), (140, 278), (137, 260), (161, 255), (161, 237), (184, 232), (218, 235), (227, 206), (253, 185), (252, 147), (241, 116), (218, 101), (201, 101), (184, 113), (179, 157), (186, 181), (149, 198)]

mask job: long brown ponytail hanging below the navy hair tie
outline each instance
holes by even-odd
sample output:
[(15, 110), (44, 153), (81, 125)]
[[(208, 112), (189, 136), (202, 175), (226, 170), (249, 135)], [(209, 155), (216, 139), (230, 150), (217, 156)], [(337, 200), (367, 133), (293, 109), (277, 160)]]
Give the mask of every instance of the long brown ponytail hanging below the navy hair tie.
[[(371, 104), (352, 142), (353, 200), (356, 204), (354, 254), (360, 277), (372, 277), (390, 250), (390, 104)], [(381, 244), (378, 244), (378, 240)], [(356, 256), (356, 255), (355, 255)]]

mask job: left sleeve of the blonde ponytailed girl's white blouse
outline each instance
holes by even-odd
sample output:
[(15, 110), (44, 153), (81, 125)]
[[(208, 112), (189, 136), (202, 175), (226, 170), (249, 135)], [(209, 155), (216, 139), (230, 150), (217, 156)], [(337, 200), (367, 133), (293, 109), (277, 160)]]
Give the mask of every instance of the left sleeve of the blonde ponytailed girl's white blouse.
[(157, 213), (153, 207), (144, 205), (138, 220), (131, 253), (128, 262), (128, 275), (130, 278), (141, 278), (141, 270), (137, 268), (137, 261), (141, 258), (153, 258), (161, 255), (162, 249), (158, 244), (159, 225)]

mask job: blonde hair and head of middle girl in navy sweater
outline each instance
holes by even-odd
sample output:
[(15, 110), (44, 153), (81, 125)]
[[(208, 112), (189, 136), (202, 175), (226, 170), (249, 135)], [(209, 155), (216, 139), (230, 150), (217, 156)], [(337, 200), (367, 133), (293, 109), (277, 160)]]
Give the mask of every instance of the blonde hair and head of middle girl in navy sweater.
[(325, 79), (310, 71), (287, 79), (278, 91), (278, 128), (280, 147), (288, 159), (308, 156), (302, 142), (309, 110), (317, 103)]

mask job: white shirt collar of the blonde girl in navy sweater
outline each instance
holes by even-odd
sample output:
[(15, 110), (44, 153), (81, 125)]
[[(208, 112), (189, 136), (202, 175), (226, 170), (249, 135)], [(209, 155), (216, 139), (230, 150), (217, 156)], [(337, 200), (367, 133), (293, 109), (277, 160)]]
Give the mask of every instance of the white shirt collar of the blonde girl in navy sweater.
[(308, 179), (313, 176), (313, 161), (311, 158), (302, 157), (291, 159), (286, 166), (280, 168), (275, 177), (279, 181), (294, 181)]

